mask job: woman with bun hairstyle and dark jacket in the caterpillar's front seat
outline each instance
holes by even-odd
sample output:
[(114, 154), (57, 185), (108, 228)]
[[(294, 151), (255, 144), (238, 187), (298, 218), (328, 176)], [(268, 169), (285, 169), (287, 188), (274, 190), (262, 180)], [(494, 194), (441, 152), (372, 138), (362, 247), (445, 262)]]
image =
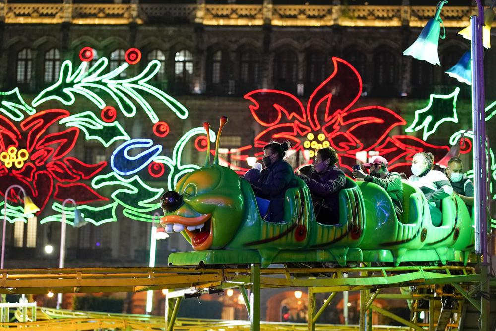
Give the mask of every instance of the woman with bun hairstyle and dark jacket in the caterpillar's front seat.
[(283, 221), (284, 195), (287, 189), (297, 186), (293, 168), (284, 161), (288, 149), (287, 142), (282, 144), (272, 142), (263, 147), (262, 162), (265, 169), (262, 170), (257, 181), (251, 182), (255, 195), (270, 200), (266, 221), (275, 223)]

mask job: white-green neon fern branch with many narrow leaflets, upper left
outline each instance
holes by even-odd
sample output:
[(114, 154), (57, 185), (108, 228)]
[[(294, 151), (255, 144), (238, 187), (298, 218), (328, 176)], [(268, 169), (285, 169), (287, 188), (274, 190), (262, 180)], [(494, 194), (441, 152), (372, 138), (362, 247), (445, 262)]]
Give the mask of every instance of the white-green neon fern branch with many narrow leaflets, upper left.
[(188, 117), (188, 110), (180, 102), (164, 91), (148, 84), (148, 81), (160, 70), (160, 61), (150, 61), (140, 74), (127, 79), (118, 79), (118, 77), (129, 67), (128, 63), (123, 63), (111, 72), (104, 74), (108, 62), (107, 58), (101, 58), (88, 70), (86, 70), (88, 63), (82, 62), (73, 73), (72, 62), (64, 61), (57, 82), (41, 91), (34, 98), (33, 107), (48, 100), (57, 100), (70, 106), (75, 102), (75, 94), (80, 94), (98, 108), (103, 109), (106, 103), (97, 93), (103, 91), (114, 100), (117, 108), (124, 116), (136, 115), (137, 104), (148, 115), (152, 123), (157, 123), (158, 117), (155, 111), (142, 97), (143, 92), (145, 92), (160, 100), (180, 119), (184, 120)]

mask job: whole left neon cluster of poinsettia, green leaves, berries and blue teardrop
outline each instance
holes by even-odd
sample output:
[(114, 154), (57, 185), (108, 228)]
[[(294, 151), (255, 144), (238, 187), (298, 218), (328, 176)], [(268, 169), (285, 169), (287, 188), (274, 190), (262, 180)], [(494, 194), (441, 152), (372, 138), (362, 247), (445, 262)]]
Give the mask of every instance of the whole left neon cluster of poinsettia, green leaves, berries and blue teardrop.
[[(157, 201), (164, 188), (162, 184), (154, 188), (145, 183), (142, 171), (152, 177), (167, 176), (172, 189), (181, 174), (196, 167), (182, 163), (182, 151), (187, 143), (194, 143), (190, 142), (192, 137), (203, 131), (196, 128), (187, 132), (170, 156), (160, 155), (162, 146), (150, 139), (131, 137), (120, 121), (133, 117), (138, 109), (150, 118), (157, 137), (164, 138), (170, 132), (167, 122), (159, 121), (144, 96), (157, 98), (180, 119), (188, 116), (183, 105), (148, 84), (159, 71), (160, 62), (152, 60), (137, 76), (117, 79), (129, 64), (140, 61), (139, 50), (128, 50), (127, 62), (108, 73), (104, 73), (106, 58), (89, 64), (95, 55), (92, 48), (83, 48), (79, 54), (82, 63), (73, 70), (72, 63), (64, 61), (58, 81), (39, 93), (32, 105), (23, 100), (17, 88), (0, 92), (0, 192), (3, 194), (11, 184), (22, 185), (42, 208), (38, 213), (44, 216), (40, 223), (60, 221), (62, 205), (51, 205), (55, 215), (48, 215), (45, 206), (49, 199), (66, 198), (75, 199), (84, 218), (95, 225), (116, 221), (120, 217), (117, 210), (121, 209), (131, 219), (151, 221), (148, 214), (159, 207)], [(85, 103), (86, 109), (77, 111), (81, 106), (76, 97), (91, 101), (93, 107)], [(49, 100), (60, 102), (61, 108), (73, 106), (74, 110), (36, 109)], [(84, 140), (93, 140), (102, 148), (115, 148), (110, 167), (107, 161), (87, 164), (69, 156)], [(26, 221), (22, 208), (15, 205), (19, 197), (9, 196), (10, 202), (14, 205), (8, 206), (7, 219)], [(65, 210), (72, 224), (73, 212), (71, 208)]]

